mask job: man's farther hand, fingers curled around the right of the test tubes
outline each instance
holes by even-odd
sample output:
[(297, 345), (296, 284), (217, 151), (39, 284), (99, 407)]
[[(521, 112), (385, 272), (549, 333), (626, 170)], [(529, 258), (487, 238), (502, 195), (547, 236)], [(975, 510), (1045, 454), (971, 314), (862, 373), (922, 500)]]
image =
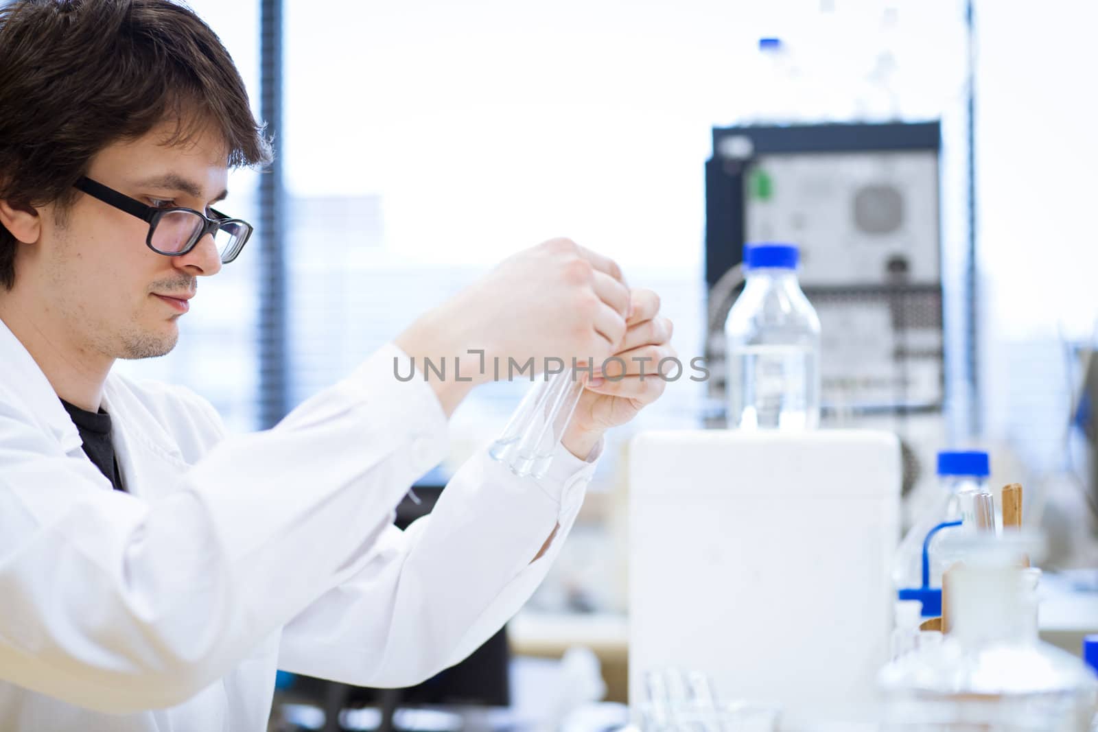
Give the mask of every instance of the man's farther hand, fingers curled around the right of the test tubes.
[[(628, 329), (614, 353), (625, 361), (625, 370), (621, 363), (610, 361), (602, 374), (597, 371), (602, 362), (594, 363), (595, 374), (602, 381), (589, 380), (561, 440), (581, 460), (587, 458), (603, 432), (629, 421), (663, 394), (666, 380), (657, 371), (659, 363), (665, 358), (677, 358), (671, 347), (674, 326), (659, 314), (659, 295), (651, 290), (634, 290), (630, 303)], [(665, 367), (664, 373), (668, 372), (674, 370)]]

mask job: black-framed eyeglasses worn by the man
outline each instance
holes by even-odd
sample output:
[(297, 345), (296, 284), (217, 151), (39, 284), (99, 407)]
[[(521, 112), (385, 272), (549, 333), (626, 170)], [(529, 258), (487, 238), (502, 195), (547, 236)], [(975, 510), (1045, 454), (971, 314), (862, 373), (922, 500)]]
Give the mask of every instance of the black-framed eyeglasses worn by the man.
[(251, 236), (251, 224), (239, 218), (229, 218), (213, 209), (210, 210), (210, 213), (216, 218), (182, 206), (154, 209), (146, 206), (137, 199), (131, 199), (125, 193), (119, 193), (112, 188), (97, 183), (90, 178), (78, 180), (76, 188), (103, 203), (148, 222), (148, 237), (146, 237), (145, 244), (148, 245), (149, 249), (165, 257), (182, 257), (193, 249), (202, 240), (202, 237), (212, 234), (221, 263), (227, 264), (236, 259), (240, 249), (248, 243), (248, 237)]

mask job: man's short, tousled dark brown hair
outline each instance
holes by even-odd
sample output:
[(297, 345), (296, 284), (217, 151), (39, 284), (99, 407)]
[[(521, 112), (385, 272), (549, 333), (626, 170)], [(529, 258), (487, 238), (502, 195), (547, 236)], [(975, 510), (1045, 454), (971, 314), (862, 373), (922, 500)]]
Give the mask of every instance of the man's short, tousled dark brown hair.
[[(110, 144), (178, 123), (224, 135), (228, 165), (271, 148), (221, 41), (169, 0), (0, 0), (0, 200), (71, 202), (72, 184)], [(0, 285), (15, 281), (15, 237), (0, 226)]]

